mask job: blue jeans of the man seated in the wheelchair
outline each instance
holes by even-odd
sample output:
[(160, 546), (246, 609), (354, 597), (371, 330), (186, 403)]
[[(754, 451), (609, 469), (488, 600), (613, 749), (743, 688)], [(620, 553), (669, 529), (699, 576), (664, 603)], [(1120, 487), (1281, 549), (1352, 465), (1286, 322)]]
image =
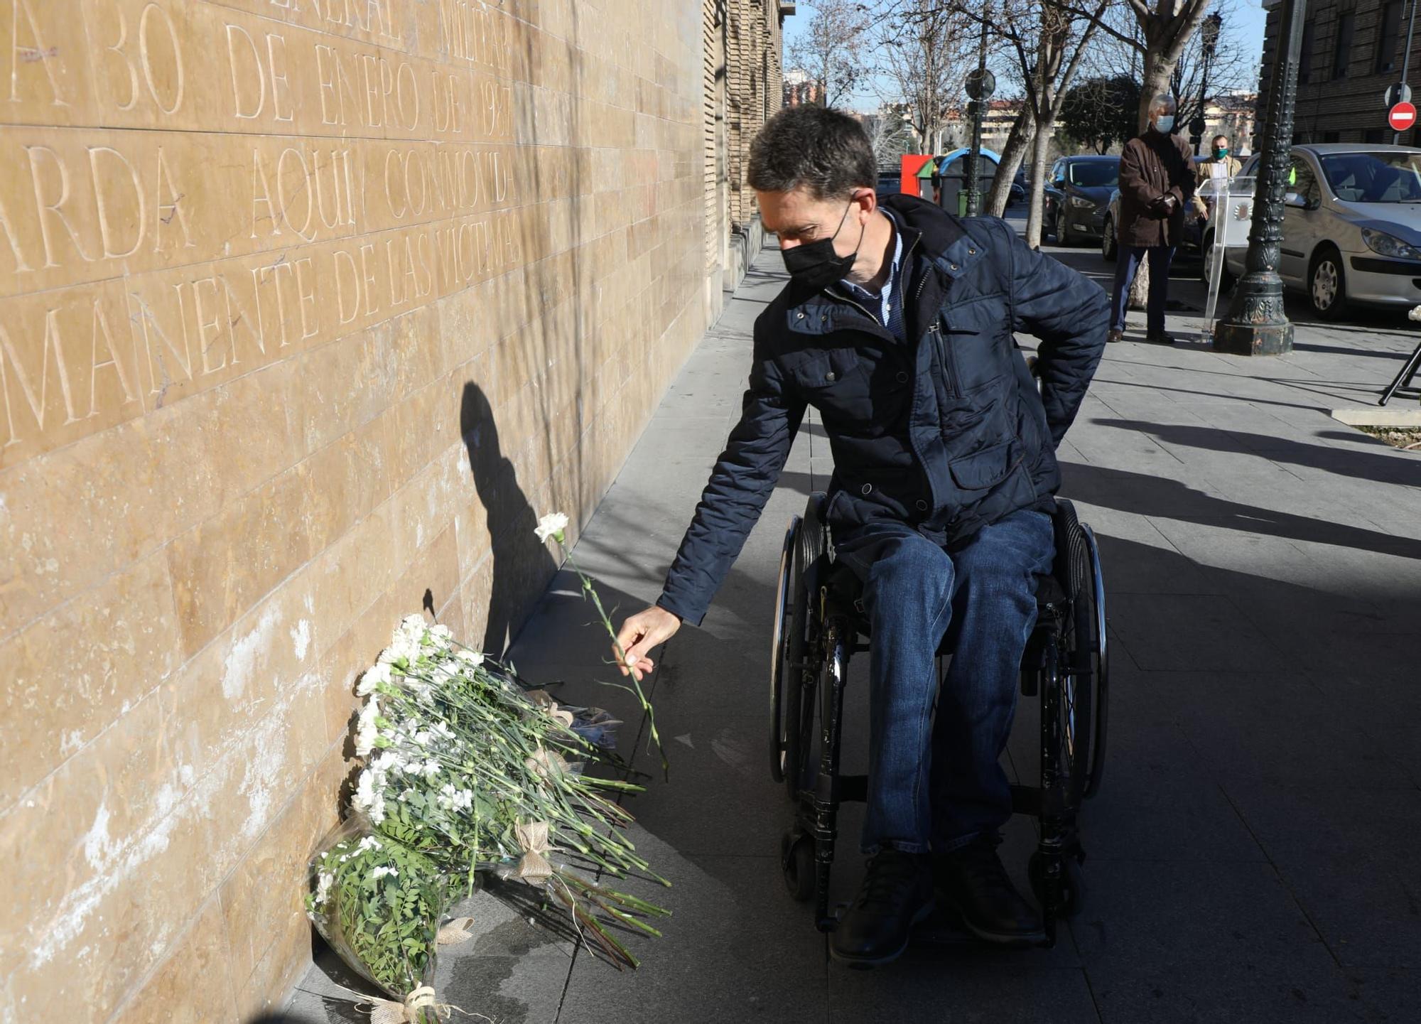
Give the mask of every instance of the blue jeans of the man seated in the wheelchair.
[[(895, 522), (836, 538), (836, 549), (864, 580), (872, 630), (864, 853), (995, 835), (1012, 816), (999, 758), (1036, 622), (1034, 576), (1054, 558), (1052, 518), (1013, 512), (952, 555)], [(953, 654), (939, 688), (944, 636)]]

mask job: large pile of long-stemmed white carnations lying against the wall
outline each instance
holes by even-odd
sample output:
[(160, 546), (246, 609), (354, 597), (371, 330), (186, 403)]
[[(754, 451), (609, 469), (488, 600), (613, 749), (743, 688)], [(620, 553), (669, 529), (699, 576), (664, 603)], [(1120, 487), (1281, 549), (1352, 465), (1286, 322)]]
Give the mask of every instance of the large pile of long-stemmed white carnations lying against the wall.
[[(470, 886), (476, 872), (496, 870), (547, 887), (614, 961), (635, 964), (597, 913), (659, 934), (637, 916), (659, 909), (577, 868), (666, 882), (620, 831), (631, 815), (604, 795), (641, 786), (583, 774), (598, 751), (571, 711), (421, 616), (401, 623), (358, 693), (355, 750), (368, 762), (354, 804), (377, 829)], [(605, 724), (605, 713), (593, 718)]]

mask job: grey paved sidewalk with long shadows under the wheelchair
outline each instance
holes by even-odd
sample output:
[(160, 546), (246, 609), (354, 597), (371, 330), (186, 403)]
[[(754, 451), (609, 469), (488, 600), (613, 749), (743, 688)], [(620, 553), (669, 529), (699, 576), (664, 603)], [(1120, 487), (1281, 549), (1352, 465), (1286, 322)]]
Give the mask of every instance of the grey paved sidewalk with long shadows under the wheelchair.
[[(1090, 250), (1057, 250), (1094, 274)], [(739, 412), (767, 250), (691, 357), (578, 543), (624, 612), (651, 602)], [(1106, 282), (1108, 284), (1108, 282)], [(1194, 299), (1191, 299), (1191, 289)], [(1182, 279), (1175, 293), (1196, 300)], [(1189, 314), (1171, 316), (1196, 337)], [(1032, 340), (1023, 338), (1032, 346)], [(1421, 1004), (1421, 454), (1329, 417), (1371, 404), (1415, 343), (1397, 317), (1300, 324), (1280, 358), (1111, 346), (1061, 447), (1063, 494), (1101, 538), (1114, 664), (1104, 786), (1086, 808), (1086, 910), (1054, 950), (915, 943), (890, 969), (828, 961), (777, 865), (790, 818), (767, 771), (767, 653), (780, 540), (830, 471), (821, 428), (790, 465), (702, 629), (659, 657), (671, 758), (630, 801), (675, 916), (618, 973), (480, 893), (479, 937), (442, 956), (443, 998), (503, 1024), (679, 1021), (1404, 1021)], [(571, 703), (604, 637), (564, 573), (513, 657)], [(863, 658), (854, 664), (864, 678)], [(863, 771), (863, 686), (847, 769)], [(1013, 767), (1034, 759), (1023, 703)], [(861, 878), (844, 815), (836, 887)], [(1030, 822), (1006, 853), (1025, 875)], [(1025, 878), (1023, 878), (1025, 885)], [(516, 893), (513, 893), (516, 895)], [(291, 1020), (362, 1020), (323, 959)], [(345, 980), (348, 984), (350, 981)]]

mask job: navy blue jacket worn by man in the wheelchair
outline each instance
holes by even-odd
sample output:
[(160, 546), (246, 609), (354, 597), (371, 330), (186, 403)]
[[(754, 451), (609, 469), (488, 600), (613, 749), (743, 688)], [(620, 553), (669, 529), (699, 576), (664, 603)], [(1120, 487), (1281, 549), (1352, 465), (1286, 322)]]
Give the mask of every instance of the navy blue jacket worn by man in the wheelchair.
[[(887, 516), (951, 550), (983, 523), (1053, 505), (1056, 445), (1106, 347), (1106, 293), (998, 218), (959, 219), (907, 195), (882, 202), (902, 225), (908, 344), (838, 284), (791, 280), (759, 316), (740, 422), (657, 602), (693, 626), (807, 405), (834, 455), (827, 519), (838, 536)], [(1040, 394), (1013, 331), (1040, 338)]]

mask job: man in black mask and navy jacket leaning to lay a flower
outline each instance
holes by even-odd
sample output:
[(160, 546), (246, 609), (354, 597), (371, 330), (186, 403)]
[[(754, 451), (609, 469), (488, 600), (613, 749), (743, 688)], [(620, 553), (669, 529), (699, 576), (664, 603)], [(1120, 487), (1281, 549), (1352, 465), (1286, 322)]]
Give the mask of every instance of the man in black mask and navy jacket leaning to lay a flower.
[[(699, 624), (774, 488), (807, 405), (834, 454), (826, 519), (871, 626), (867, 876), (834, 932), (853, 966), (895, 959), (934, 893), (980, 939), (1042, 922), (996, 853), (999, 757), (1054, 553), (1056, 445), (1110, 326), (1106, 293), (996, 218), (878, 196), (868, 138), (820, 107), (776, 114), (749, 182), (790, 280), (755, 324), (743, 412), (624, 671)], [(1033, 381), (1013, 331), (1040, 338)], [(946, 640), (952, 658), (936, 678)], [(935, 708), (935, 714), (934, 714)]]

